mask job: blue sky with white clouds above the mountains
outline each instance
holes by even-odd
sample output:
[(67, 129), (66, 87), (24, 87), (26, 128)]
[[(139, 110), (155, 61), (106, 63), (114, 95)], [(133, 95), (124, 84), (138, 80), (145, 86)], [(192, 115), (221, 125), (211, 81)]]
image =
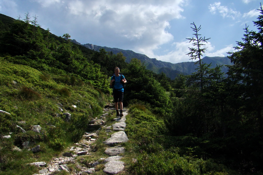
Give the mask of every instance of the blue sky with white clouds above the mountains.
[(188, 62), (189, 43), (210, 38), (203, 56), (225, 57), (242, 41), (244, 28), (258, 31), (259, 0), (0, 0), (0, 13), (37, 17), (52, 34), (81, 44), (132, 50), (157, 60)]

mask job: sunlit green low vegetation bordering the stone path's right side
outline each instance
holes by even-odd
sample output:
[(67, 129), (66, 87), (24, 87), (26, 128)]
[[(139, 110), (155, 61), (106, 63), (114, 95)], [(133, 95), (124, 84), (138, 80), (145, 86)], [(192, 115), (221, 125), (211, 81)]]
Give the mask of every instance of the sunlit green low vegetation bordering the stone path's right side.
[[(140, 104), (129, 107), (126, 133), (129, 141), (123, 161), (130, 174), (230, 175), (237, 174), (213, 160), (181, 154), (181, 148), (167, 147), (163, 120)], [(180, 154), (179, 154), (180, 152)], [(133, 163), (132, 158), (137, 162)]]

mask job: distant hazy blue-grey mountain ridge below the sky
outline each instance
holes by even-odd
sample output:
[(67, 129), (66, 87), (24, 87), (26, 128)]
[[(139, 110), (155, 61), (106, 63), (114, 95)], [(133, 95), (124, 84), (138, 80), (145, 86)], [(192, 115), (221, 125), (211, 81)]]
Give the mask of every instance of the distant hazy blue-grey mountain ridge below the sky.
[[(73, 40), (74, 43), (77, 43)], [(77, 43), (80, 45), (80, 43)], [(149, 58), (146, 55), (135, 53), (132, 50), (122, 50), (119, 48), (109, 48), (96, 46), (93, 44), (83, 44), (82, 46), (89, 48), (91, 50), (99, 51), (101, 48), (105, 49), (107, 52), (113, 52), (113, 54), (122, 53), (126, 57), (126, 62), (129, 63), (132, 58), (137, 58), (141, 60), (142, 63), (146, 66), (146, 69), (160, 74), (161, 72), (165, 73), (167, 77), (172, 80), (178, 76), (178, 74), (189, 75), (195, 72), (198, 67), (194, 62), (181, 62), (181, 63), (170, 63), (156, 60), (155, 58)], [(230, 60), (227, 57), (204, 57), (203, 62), (210, 64), (212, 63), (211, 68), (216, 67), (216, 65), (232, 65)], [(226, 67), (223, 67), (223, 72), (227, 71)]]

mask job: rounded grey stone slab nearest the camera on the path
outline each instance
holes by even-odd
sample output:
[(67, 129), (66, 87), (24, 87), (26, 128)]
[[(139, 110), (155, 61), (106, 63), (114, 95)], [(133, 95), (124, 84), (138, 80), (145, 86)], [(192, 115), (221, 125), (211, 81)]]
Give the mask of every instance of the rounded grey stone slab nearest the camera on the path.
[(103, 172), (108, 174), (117, 174), (120, 171), (123, 171), (124, 169), (124, 162), (121, 162), (119, 160), (112, 160), (108, 163), (106, 163), (105, 168), (103, 169)]

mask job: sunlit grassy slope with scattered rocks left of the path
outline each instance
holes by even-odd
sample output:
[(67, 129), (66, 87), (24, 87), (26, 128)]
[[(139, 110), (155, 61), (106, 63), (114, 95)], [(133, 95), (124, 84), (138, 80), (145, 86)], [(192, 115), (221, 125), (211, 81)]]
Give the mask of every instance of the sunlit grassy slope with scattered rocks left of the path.
[[(0, 110), (10, 113), (0, 113), (0, 174), (34, 174), (37, 169), (27, 163), (48, 162), (64, 147), (80, 139), (87, 122), (102, 113), (107, 96), (90, 85), (67, 85), (64, 79), (65, 76), (42, 74), (0, 58)], [(71, 114), (70, 122), (64, 120), (58, 103), (63, 104), (63, 112)], [(27, 132), (22, 133), (16, 125)], [(30, 131), (32, 125), (40, 125), (41, 133)], [(11, 139), (2, 138), (10, 132)], [(22, 148), (25, 141), (30, 141), (30, 148), (40, 145), (41, 151), (11, 150), (14, 146)]]

